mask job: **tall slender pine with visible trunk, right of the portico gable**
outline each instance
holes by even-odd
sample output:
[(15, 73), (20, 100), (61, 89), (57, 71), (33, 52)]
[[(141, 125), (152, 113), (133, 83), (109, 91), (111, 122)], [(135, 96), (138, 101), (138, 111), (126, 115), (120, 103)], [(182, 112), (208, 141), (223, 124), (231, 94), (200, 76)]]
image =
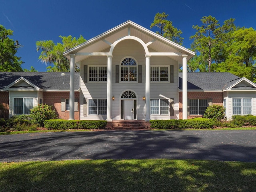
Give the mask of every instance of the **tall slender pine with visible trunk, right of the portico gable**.
[(200, 59), (203, 63), (207, 61), (207, 70), (210, 72), (212, 56), (216, 53), (213, 52), (213, 48), (217, 44), (216, 36), (220, 33), (218, 30), (220, 24), (218, 23), (218, 20), (212, 16), (202, 17), (201, 22), (203, 23), (202, 26), (192, 26), (192, 28), (196, 29), (197, 32), (195, 35), (190, 36), (190, 39), (194, 39), (191, 46), (192, 50), (200, 53)]

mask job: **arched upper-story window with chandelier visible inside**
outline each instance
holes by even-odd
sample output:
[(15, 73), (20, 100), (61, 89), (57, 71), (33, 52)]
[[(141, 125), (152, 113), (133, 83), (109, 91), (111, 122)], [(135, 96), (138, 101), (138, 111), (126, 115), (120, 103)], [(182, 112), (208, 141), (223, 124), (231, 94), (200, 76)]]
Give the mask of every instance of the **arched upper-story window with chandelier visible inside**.
[(121, 63), (121, 81), (137, 81), (137, 63), (133, 58), (125, 58)]

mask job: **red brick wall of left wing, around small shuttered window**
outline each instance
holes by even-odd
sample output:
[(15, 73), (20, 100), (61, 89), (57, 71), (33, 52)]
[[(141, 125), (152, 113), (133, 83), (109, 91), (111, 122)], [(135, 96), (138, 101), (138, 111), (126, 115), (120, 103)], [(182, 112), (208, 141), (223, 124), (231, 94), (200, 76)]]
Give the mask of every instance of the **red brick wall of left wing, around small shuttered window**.
[[(61, 98), (69, 99), (69, 92), (43, 92), (43, 103), (53, 106), (59, 118), (68, 120), (69, 111), (61, 111)], [(79, 92), (75, 92), (75, 98), (79, 98)], [(79, 111), (75, 112), (75, 119), (79, 120)]]

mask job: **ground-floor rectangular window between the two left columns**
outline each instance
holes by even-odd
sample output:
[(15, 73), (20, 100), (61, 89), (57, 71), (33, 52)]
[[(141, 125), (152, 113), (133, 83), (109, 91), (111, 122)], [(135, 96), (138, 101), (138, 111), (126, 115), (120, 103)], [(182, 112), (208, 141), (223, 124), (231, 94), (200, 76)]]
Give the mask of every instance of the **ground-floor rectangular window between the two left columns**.
[(107, 114), (106, 99), (89, 99), (88, 102), (89, 115), (105, 115)]

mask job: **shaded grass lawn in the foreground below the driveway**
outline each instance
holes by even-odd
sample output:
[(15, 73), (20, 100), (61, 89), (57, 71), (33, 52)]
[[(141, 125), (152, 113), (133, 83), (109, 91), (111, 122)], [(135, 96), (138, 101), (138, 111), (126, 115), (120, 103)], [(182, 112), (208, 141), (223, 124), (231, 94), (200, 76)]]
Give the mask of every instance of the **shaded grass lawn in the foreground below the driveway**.
[(67, 160), (0, 163), (1, 192), (249, 192), (256, 163)]

